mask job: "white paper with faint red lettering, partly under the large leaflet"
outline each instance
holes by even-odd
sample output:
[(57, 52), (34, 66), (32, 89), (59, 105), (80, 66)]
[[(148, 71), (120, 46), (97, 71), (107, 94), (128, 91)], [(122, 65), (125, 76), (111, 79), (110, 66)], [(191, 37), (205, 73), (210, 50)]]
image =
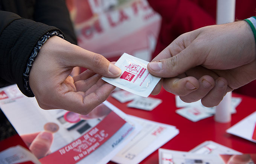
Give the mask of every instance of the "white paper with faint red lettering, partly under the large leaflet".
[(128, 143), (112, 161), (119, 164), (137, 164), (166, 142), (175, 137), (179, 130), (168, 124), (129, 116), (143, 126), (142, 131)]

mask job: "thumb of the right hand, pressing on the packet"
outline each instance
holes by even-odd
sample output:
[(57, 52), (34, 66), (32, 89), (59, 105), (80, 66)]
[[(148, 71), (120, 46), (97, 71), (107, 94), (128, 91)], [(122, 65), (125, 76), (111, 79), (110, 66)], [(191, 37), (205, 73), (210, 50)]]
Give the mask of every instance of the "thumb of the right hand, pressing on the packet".
[(200, 65), (198, 53), (193, 49), (189, 45), (177, 55), (148, 63), (149, 73), (162, 78), (172, 78)]

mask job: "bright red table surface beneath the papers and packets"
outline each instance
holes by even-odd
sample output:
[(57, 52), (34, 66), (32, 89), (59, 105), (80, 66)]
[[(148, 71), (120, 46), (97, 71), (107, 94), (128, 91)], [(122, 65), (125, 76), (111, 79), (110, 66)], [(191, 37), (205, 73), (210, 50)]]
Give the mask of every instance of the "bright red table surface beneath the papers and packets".
[[(177, 151), (190, 151), (200, 143), (212, 140), (242, 153), (256, 153), (256, 143), (226, 133), (226, 130), (229, 127), (255, 111), (256, 107), (254, 107), (254, 104), (256, 104), (256, 98), (233, 93), (233, 97), (241, 97), (242, 101), (236, 108), (237, 112), (232, 115), (231, 122), (221, 124), (215, 122), (213, 116), (198, 122), (192, 122), (178, 115), (175, 113), (177, 108), (175, 106), (174, 95), (166, 92), (164, 89), (161, 90), (160, 94), (150, 97), (163, 100), (163, 102), (152, 111), (128, 108), (126, 107), (127, 103), (119, 103), (119, 101), (112, 97), (109, 97), (108, 101), (127, 114), (176, 126), (180, 130), (180, 133), (161, 148)], [(26, 147), (18, 135), (1, 141), (0, 145), (0, 151), (15, 145)], [(158, 163), (158, 151), (153, 152), (140, 164), (156, 163)], [(109, 162), (108, 164), (114, 163)]]

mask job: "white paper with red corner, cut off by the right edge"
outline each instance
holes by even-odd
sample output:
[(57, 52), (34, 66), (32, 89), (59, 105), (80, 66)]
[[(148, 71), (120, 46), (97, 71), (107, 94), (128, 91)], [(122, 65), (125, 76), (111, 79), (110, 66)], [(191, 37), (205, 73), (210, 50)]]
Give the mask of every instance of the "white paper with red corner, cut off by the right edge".
[(227, 130), (227, 133), (242, 137), (256, 143), (253, 139), (256, 134), (256, 111), (245, 117)]

